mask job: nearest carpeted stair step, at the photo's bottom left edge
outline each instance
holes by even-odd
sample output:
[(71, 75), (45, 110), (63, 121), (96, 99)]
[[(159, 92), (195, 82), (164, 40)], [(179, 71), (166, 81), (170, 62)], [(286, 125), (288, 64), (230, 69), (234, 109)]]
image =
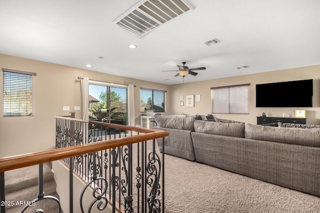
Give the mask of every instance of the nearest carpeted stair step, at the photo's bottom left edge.
[[(56, 193), (52, 193), (49, 196), (53, 196), (59, 199), (59, 196)], [(24, 208), (23, 206), (16, 206), (16, 207), (5, 210), (5, 213), (19, 213), (23, 208)], [(58, 213), (58, 205), (55, 201), (51, 199), (44, 199), (36, 202), (35, 206), (28, 207), (24, 213), (33, 213), (34, 210), (36, 209), (41, 209), (45, 213)], [(61, 210), (61, 213), (63, 213), (62, 210)]]

